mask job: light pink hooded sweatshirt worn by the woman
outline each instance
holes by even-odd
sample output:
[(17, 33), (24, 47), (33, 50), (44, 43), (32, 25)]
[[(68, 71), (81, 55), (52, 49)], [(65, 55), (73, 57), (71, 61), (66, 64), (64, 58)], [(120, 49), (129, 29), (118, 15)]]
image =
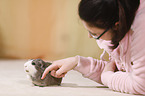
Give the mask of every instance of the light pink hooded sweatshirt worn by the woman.
[(112, 51), (103, 45), (103, 40), (97, 40), (99, 47), (109, 54), (111, 60), (115, 60), (119, 71), (102, 73), (108, 61), (82, 56), (78, 56), (79, 61), (74, 70), (112, 90), (145, 94), (145, 0), (140, 0), (131, 30)]

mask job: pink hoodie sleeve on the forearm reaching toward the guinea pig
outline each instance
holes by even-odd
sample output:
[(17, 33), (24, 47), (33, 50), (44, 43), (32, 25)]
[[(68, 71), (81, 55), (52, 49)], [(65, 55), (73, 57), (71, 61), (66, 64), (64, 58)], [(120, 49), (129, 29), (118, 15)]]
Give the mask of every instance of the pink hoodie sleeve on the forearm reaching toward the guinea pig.
[(74, 70), (82, 73), (84, 77), (102, 84), (101, 73), (105, 64), (107, 64), (107, 61), (94, 59), (92, 57), (78, 56), (78, 64)]

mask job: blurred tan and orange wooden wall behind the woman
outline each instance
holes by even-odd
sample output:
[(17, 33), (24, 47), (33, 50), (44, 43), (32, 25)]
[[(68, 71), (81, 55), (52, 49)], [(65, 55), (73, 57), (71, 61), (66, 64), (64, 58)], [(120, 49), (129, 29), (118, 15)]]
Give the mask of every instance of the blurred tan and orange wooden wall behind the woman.
[(0, 0), (0, 57), (99, 58), (100, 50), (82, 26), (79, 0)]

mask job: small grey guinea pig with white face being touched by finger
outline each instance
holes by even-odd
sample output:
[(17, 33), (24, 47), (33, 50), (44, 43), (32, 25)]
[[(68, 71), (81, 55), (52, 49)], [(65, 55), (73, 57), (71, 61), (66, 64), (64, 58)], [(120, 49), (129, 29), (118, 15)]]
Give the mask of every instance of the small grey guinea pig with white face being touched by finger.
[(44, 70), (51, 64), (52, 63), (44, 62), (41, 59), (29, 60), (24, 64), (24, 70), (35, 86), (45, 87), (50, 85), (60, 85), (62, 78), (55, 78), (51, 76), (50, 72), (46, 75), (45, 79), (41, 79)]

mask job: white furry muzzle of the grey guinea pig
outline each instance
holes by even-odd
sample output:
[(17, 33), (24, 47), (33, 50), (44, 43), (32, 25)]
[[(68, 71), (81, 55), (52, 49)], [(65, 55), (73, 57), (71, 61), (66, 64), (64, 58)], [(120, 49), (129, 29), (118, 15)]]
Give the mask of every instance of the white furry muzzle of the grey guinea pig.
[(24, 70), (25, 72), (30, 76), (35, 76), (35, 73), (37, 72), (35, 65), (32, 65), (33, 60), (29, 60), (24, 64)]

